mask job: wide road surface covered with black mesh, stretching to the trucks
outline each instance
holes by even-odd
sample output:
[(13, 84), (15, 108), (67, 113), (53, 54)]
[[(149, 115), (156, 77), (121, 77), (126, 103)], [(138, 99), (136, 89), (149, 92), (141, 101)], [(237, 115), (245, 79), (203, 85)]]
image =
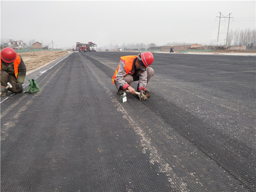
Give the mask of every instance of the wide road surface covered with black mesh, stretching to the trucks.
[(1, 191), (255, 191), (256, 57), (153, 53), (151, 97), (121, 102), (137, 54), (74, 52), (1, 98)]

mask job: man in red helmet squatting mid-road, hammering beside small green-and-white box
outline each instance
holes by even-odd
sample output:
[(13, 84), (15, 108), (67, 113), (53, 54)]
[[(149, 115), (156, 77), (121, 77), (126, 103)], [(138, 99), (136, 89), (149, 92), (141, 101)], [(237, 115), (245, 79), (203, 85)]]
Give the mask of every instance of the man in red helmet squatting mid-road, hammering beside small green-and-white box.
[(128, 90), (130, 94), (136, 94), (135, 89), (130, 86), (133, 81), (138, 81), (137, 91), (143, 91), (142, 100), (150, 97), (150, 90), (146, 88), (150, 78), (154, 75), (154, 70), (148, 67), (154, 61), (150, 52), (143, 52), (131, 56), (120, 57), (120, 63), (112, 78), (113, 84), (116, 85), (117, 94), (123, 94)]

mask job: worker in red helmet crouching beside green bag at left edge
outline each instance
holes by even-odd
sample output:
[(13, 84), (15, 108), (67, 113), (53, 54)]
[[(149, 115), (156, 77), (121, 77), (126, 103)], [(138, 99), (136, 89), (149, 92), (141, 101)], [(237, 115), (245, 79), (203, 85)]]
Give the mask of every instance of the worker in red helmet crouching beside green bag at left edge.
[[(22, 84), (26, 77), (26, 66), (21, 56), (9, 47), (4, 48), (0, 55), (1, 97), (7, 96), (8, 90), (13, 93), (21, 93), (23, 91)], [(8, 82), (10, 82), (12, 88), (6, 89)]]

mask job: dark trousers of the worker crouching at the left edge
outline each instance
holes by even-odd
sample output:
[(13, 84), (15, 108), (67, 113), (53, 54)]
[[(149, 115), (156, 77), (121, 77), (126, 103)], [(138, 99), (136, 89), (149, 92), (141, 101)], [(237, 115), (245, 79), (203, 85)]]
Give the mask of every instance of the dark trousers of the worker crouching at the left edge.
[(7, 83), (9, 82), (12, 85), (12, 88), (8, 88), (9, 91), (13, 93), (21, 93), (23, 91), (22, 88), (17, 88), (16, 87), (16, 77), (14, 75), (9, 75), (5, 70), (0, 70), (0, 80), (1, 80), (1, 85), (6, 87)]

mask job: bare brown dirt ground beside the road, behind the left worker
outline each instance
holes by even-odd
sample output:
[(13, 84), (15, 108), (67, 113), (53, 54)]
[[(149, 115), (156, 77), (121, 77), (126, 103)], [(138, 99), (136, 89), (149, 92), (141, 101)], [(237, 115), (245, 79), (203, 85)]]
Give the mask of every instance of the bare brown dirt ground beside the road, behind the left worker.
[(37, 51), (19, 53), (27, 68), (27, 72), (67, 54), (67, 51)]

